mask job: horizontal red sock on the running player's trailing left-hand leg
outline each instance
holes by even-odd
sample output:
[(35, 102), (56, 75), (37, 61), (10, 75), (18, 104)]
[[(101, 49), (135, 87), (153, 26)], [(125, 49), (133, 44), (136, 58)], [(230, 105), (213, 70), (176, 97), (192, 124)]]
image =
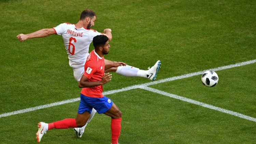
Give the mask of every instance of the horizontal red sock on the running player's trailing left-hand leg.
[(63, 129), (63, 128), (76, 128), (75, 118), (66, 118), (61, 121), (53, 122), (48, 124), (48, 130), (56, 128), (56, 129)]

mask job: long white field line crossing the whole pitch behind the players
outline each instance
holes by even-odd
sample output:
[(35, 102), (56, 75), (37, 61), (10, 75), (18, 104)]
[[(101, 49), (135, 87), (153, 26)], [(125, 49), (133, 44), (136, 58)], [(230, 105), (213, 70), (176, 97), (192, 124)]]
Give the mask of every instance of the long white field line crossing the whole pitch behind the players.
[[(256, 62), (256, 59), (255, 60), (251, 60), (251, 61), (237, 63), (237, 64), (231, 64), (231, 65), (227, 65), (227, 66), (212, 68), (211, 70), (218, 71), (218, 70), (223, 70), (223, 69), (243, 66), (243, 65), (247, 65), (247, 64), (252, 64), (252, 63), (255, 63), (255, 62)], [(207, 70), (209, 70), (209, 69), (207, 69)], [(141, 86), (148, 86), (148, 85), (153, 85), (153, 84), (173, 81), (173, 80), (177, 80), (177, 79), (188, 78), (188, 77), (192, 77), (192, 76), (196, 76), (196, 75), (202, 75), (204, 73), (204, 71), (207, 71), (207, 70), (202, 70), (202, 71), (198, 71), (196, 73), (190, 73), (190, 74), (176, 76), (176, 77), (170, 77), (170, 78), (166, 78), (166, 79), (162, 79), (162, 80), (158, 80), (158, 81), (154, 81), (154, 82), (148, 82), (148, 83), (144, 83), (144, 84), (132, 85), (132, 86), (124, 87), (122, 89), (118, 89), (118, 90), (106, 91), (103, 94), (104, 95), (109, 95), (109, 94), (114, 94), (114, 93), (118, 93), (118, 92), (124, 92), (124, 91), (132, 90), (132, 89), (138, 89)], [(13, 111), (13, 112), (3, 113), (3, 114), (0, 114), (0, 118), (1, 117), (6, 117), (6, 116), (10, 116), (10, 115), (14, 115), (14, 114), (20, 114), (20, 113), (25, 113), (25, 112), (29, 112), (29, 111), (39, 110), (39, 109), (43, 109), (43, 108), (54, 107), (54, 106), (58, 106), (58, 105), (62, 105), (62, 104), (65, 104), (65, 103), (70, 103), (70, 102), (75, 102), (75, 101), (79, 101), (79, 100), (80, 100), (80, 98), (68, 99), (68, 100), (54, 102), (54, 103), (50, 103), (50, 104), (46, 104), (46, 105), (42, 105), (42, 106), (33, 107), (33, 108), (28, 108), (28, 109), (23, 109), (23, 110), (17, 110), (17, 111)]]

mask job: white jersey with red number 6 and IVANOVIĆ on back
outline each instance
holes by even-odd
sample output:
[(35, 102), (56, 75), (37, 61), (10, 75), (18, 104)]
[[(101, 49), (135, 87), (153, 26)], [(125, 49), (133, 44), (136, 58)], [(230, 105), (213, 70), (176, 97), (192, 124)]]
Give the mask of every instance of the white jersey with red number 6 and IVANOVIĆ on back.
[(63, 42), (68, 53), (69, 65), (74, 68), (84, 67), (89, 46), (93, 38), (102, 35), (93, 29), (76, 28), (70, 23), (61, 23), (53, 28), (55, 33), (62, 35)]

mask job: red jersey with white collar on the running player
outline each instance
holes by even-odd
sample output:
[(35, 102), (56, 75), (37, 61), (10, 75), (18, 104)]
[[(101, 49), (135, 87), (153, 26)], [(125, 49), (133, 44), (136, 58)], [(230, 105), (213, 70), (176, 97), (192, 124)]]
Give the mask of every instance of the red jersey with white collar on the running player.
[[(91, 53), (88, 55), (87, 60), (84, 65), (84, 76), (86, 76), (91, 81), (101, 81), (103, 75), (104, 75), (104, 69), (105, 69), (105, 62), (104, 57), (100, 57), (95, 50), (91, 51)], [(81, 91), (81, 93), (88, 97), (96, 97), (96, 98), (102, 98), (104, 95), (103, 92), (103, 86), (93, 86), (93, 87), (84, 87)]]

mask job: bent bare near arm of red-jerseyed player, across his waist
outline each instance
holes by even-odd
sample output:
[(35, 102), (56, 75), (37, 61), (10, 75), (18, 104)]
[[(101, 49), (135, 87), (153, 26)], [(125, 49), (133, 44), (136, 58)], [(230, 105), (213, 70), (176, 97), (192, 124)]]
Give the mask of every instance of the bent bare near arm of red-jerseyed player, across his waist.
[(102, 84), (106, 84), (107, 82), (111, 81), (111, 78), (112, 78), (112, 75), (109, 74), (109, 73), (104, 73), (101, 81), (91, 81), (91, 82), (88, 82), (88, 78), (86, 76), (82, 76), (78, 86), (80, 88), (83, 88), (83, 87), (93, 87), (93, 86), (97, 86), (97, 85), (102, 85)]

